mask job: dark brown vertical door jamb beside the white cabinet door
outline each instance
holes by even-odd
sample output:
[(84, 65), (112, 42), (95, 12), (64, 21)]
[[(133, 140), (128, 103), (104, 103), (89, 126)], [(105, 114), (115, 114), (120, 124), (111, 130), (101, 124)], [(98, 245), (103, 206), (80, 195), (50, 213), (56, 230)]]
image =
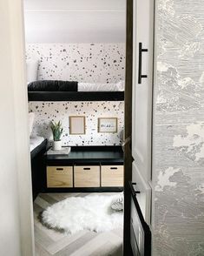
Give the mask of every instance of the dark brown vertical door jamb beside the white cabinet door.
[(130, 245), (130, 199), (128, 182), (132, 180), (132, 69), (133, 69), (133, 0), (126, 1), (126, 75), (125, 75), (125, 132), (124, 132), (124, 227), (123, 255), (133, 255)]

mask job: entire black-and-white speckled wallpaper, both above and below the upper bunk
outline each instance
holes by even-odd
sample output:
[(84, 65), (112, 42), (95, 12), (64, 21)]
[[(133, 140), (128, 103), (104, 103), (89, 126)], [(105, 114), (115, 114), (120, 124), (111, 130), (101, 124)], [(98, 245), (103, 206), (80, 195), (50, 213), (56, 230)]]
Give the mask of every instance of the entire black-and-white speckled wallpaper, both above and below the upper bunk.
[[(28, 44), (27, 58), (38, 59), (38, 79), (116, 83), (125, 78), (125, 44)], [(121, 145), (123, 102), (30, 102), (36, 112), (33, 135), (51, 139), (49, 122), (63, 122), (63, 145)], [(69, 116), (86, 117), (86, 134), (69, 135)], [(118, 118), (117, 133), (98, 133), (97, 119)]]

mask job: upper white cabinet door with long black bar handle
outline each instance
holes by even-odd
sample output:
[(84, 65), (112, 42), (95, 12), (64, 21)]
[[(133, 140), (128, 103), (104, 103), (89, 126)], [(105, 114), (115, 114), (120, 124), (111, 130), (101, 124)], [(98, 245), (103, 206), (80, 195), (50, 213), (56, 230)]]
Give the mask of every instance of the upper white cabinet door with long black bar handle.
[(151, 179), (154, 1), (134, 0), (132, 154), (145, 181)]

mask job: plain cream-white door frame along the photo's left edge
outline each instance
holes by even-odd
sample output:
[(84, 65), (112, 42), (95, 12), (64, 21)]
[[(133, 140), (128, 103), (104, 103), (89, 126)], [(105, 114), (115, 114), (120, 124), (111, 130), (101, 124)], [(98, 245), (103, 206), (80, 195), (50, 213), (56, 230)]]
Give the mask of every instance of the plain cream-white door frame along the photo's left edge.
[[(11, 212), (18, 219), (18, 230), (13, 230), (8, 236), (5, 234), (3, 240), (8, 244), (17, 244), (19, 251), (12, 255), (33, 256), (34, 249), (34, 225), (33, 225), (33, 203), (31, 191), (31, 167), (30, 167), (30, 132), (28, 117), (28, 93), (26, 86), (25, 67), (25, 42), (23, 26), (23, 0), (1, 1), (0, 8), (2, 20), (1, 34), (1, 65), (3, 66), (3, 86), (1, 88), (10, 103), (10, 109), (4, 115), (12, 117), (12, 134), (8, 137), (8, 144), (12, 147), (10, 151), (2, 154), (10, 157), (12, 168), (5, 166), (5, 171), (10, 174), (15, 187), (10, 187), (12, 199), (15, 200), (16, 211)], [(8, 91), (10, 90), (10, 91)], [(3, 103), (3, 108), (7, 107), (7, 102)], [(2, 112), (2, 114), (4, 113)], [(10, 125), (10, 124), (3, 124)], [(12, 141), (10, 141), (12, 139)], [(9, 175), (9, 174), (7, 174)], [(10, 185), (8, 184), (8, 185)], [(7, 196), (7, 195), (5, 195)], [(11, 198), (11, 196), (10, 196)], [(10, 206), (8, 200), (8, 207)], [(12, 219), (10, 225), (12, 226)], [(6, 250), (4, 248), (3, 250)]]

